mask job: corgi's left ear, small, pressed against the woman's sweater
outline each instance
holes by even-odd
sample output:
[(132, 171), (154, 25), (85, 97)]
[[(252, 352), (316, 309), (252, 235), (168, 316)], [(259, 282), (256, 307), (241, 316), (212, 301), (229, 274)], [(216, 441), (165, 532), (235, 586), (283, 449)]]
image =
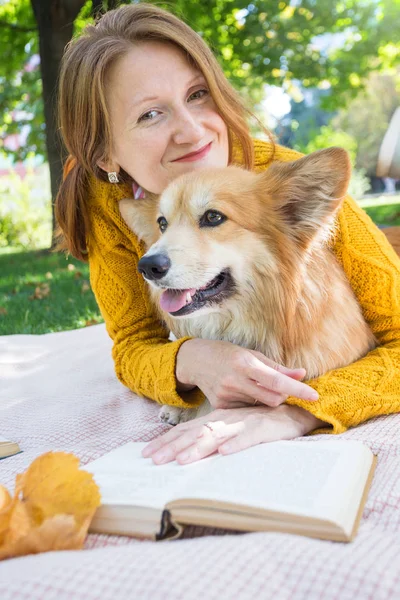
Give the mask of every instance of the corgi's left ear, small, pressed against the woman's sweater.
[(154, 244), (160, 233), (157, 225), (157, 198), (124, 198), (119, 201), (118, 206), (121, 217), (139, 240), (142, 240), (147, 248)]

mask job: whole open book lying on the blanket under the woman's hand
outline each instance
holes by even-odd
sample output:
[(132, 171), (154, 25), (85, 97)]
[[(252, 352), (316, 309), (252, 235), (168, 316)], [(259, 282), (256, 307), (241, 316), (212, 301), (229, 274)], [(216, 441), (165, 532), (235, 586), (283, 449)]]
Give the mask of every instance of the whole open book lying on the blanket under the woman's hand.
[(142, 458), (145, 445), (128, 443), (85, 465), (102, 496), (90, 531), (163, 539), (190, 524), (350, 541), (376, 462), (361, 442), (332, 440), (156, 466)]

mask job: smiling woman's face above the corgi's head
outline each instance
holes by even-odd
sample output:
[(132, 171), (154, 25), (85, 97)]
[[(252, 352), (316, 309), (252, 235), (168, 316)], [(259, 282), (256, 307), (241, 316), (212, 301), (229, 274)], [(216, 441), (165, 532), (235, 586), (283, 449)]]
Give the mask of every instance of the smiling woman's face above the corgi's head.
[(200, 71), (172, 44), (144, 42), (110, 73), (111, 161), (160, 194), (182, 173), (228, 164), (227, 128)]

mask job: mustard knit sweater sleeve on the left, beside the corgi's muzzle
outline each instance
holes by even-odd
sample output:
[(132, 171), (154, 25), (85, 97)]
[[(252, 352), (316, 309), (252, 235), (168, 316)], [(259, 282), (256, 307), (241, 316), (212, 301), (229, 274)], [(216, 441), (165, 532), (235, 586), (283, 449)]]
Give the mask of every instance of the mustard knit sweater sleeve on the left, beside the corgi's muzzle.
[(169, 331), (152, 308), (137, 271), (144, 248), (119, 214), (118, 194), (123, 194), (107, 184), (97, 183), (95, 188), (88, 240), (90, 282), (114, 342), (117, 377), (160, 404), (198, 406), (204, 400), (198, 388), (181, 393), (176, 389), (176, 356), (189, 338), (169, 341)]

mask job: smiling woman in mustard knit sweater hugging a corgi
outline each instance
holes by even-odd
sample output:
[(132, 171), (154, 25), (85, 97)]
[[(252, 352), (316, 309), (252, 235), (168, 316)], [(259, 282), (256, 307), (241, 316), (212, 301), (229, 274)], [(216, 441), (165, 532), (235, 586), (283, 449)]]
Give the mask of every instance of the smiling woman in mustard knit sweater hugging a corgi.
[(188, 26), (135, 4), (87, 27), (64, 56), (60, 117), (72, 157), (56, 203), (62, 247), (89, 260), (118, 377), (161, 404), (193, 407), (205, 394), (216, 409), (154, 440), (145, 456), (187, 463), (314, 430), (340, 433), (399, 409), (399, 261), (350, 198), (333, 249), (378, 349), (309, 386), (300, 381), (303, 369), (258, 352), (219, 341), (168, 341), (137, 272), (143, 248), (118, 201), (160, 194), (181, 173), (209, 165), (263, 170), (299, 156), (251, 139), (239, 97)]

